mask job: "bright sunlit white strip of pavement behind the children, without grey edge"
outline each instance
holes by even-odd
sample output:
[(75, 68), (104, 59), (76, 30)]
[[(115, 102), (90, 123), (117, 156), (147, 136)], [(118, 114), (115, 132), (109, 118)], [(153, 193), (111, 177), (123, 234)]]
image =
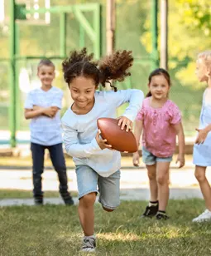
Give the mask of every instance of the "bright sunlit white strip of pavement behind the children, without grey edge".
[[(58, 180), (55, 170), (46, 170), (43, 174), (43, 190), (58, 190)], [(207, 171), (211, 181), (211, 172)], [(74, 170), (68, 171), (70, 190), (77, 191), (76, 175)], [(199, 187), (194, 177), (194, 168), (171, 169), (170, 187), (187, 188)], [(146, 169), (124, 169), (121, 172), (121, 189), (148, 188), (149, 181)], [(31, 190), (31, 170), (0, 170), (0, 189)]]

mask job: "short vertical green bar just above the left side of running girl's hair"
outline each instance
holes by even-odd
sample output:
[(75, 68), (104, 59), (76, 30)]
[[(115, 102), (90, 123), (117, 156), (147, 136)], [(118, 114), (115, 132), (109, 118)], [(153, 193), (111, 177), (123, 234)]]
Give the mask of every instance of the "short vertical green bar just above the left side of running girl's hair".
[(67, 26), (66, 26), (66, 13), (60, 13), (60, 56), (66, 56), (66, 37), (67, 37)]

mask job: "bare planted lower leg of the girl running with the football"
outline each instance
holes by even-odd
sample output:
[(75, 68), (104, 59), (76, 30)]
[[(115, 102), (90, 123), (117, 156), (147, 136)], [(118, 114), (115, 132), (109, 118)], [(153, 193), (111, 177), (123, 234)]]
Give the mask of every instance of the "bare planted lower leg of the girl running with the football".
[(96, 193), (85, 194), (79, 199), (79, 220), (85, 236), (94, 234), (94, 202)]

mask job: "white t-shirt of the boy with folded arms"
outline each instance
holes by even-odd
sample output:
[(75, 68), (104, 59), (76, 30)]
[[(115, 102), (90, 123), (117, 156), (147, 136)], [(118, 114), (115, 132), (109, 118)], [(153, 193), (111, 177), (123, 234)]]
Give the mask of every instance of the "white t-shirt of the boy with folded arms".
[[(63, 91), (52, 86), (49, 91), (41, 88), (29, 92), (25, 109), (32, 109), (33, 106), (57, 106), (61, 109)], [(62, 143), (60, 111), (57, 111), (53, 118), (48, 116), (37, 116), (31, 118), (30, 123), (31, 142), (39, 145), (55, 145)]]

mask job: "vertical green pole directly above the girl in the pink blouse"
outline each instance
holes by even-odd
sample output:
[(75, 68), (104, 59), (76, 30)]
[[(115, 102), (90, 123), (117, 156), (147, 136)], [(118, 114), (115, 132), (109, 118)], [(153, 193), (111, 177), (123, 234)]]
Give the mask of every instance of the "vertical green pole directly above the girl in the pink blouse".
[(157, 4), (158, 0), (152, 0), (151, 4), (151, 35), (152, 35), (152, 68), (156, 69), (159, 66), (158, 63), (158, 50), (157, 50), (157, 38), (158, 38), (158, 27), (157, 27)]

